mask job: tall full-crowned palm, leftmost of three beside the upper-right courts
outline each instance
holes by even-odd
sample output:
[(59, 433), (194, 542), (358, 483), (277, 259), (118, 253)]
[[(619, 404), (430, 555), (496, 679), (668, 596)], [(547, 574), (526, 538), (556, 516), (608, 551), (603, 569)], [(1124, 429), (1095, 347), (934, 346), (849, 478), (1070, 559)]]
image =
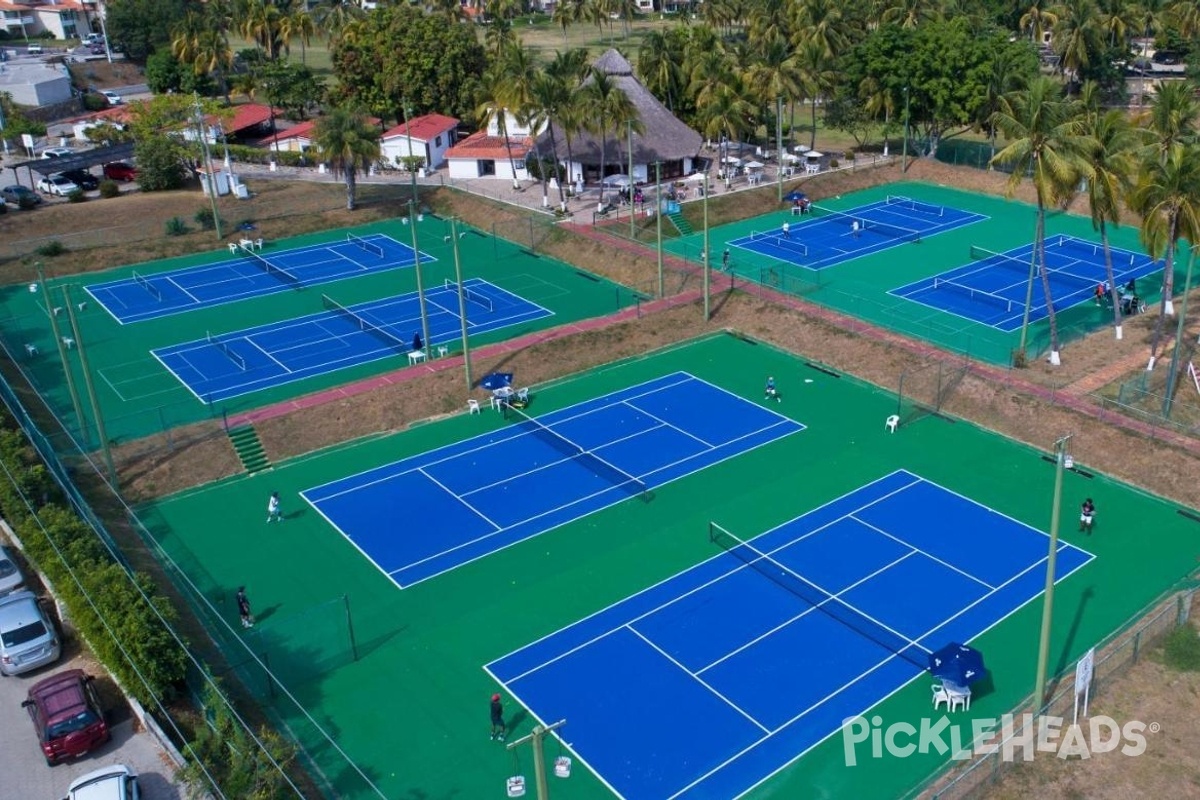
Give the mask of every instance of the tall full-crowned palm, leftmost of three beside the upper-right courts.
[(1058, 349), (1058, 323), (1054, 297), (1050, 291), (1050, 275), (1046, 272), (1045, 217), (1046, 206), (1068, 197), (1087, 175), (1082, 155), (1090, 148), (1085, 134), (1085, 121), (1076, 112), (1076, 104), (1063, 98), (1062, 85), (1042, 76), (1028, 90), (1007, 95), (1000, 101), (995, 125), (1009, 144), (992, 157), (992, 163), (1012, 164), (1008, 193), (1012, 196), (1028, 173), (1038, 199), (1037, 223), (1033, 234), (1034, 263), (1030, 266), (1030, 281), (1025, 291), (1025, 314), (1021, 320), (1021, 341), (1018, 345), (1018, 363), (1025, 363), (1030, 312), (1033, 305), (1033, 278), (1042, 273), (1042, 293), (1045, 297), (1046, 317), (1050, 325), (1050, 363), (1061, 363)]

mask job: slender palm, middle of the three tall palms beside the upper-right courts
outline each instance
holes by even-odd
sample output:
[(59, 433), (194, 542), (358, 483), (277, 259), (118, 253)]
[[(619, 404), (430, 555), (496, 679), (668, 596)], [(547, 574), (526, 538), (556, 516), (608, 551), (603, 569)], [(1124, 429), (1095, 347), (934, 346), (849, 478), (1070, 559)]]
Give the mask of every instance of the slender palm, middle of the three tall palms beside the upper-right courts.
[[(1088, 109), (1085, 133), (1092, 139), (1092, 146), (1084, 155), (1090, 173), (1087, 205), (1092, 212), (1092, 225), (1099, 231), (1104, 246), (1104, 270), (1115, 297), (1118, 284), (1112, 273), (1108, 223), (1121, 224), (1121, 205), (1133, 187), (1138, 132), (1122, 110), (1100, 113)], [(1120, 339), (1121, 303), (1116, 300), (1112, 302), (1112, 325)]]

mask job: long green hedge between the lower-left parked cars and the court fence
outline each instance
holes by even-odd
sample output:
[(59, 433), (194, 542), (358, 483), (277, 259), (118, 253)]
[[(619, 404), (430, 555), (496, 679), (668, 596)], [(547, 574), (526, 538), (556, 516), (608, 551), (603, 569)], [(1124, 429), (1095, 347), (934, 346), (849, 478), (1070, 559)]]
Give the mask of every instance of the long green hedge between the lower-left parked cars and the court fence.
[(143, 705), (173, 697), (182, 686), (187, 656), (146, 597), (168, 624), (176, 619), (174, 608), (148, 576), (134, 572), (131, 581), (100, 535), (70, 509), (37, 451), (6, 413), (0, 415), (0, 464), (7, 479), (0, 479), (0, 515), (30, 564), (54, 584), (72, 626)]

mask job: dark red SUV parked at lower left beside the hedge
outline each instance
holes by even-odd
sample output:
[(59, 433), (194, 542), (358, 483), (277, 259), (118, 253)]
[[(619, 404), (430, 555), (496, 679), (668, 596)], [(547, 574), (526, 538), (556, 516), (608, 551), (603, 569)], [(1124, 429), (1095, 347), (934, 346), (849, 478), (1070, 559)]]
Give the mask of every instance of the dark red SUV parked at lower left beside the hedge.
[(50, 766), (95, 750), (110, 736), (92, 680), (83, 669), (67, 669), (29, 687), (22, 705)]

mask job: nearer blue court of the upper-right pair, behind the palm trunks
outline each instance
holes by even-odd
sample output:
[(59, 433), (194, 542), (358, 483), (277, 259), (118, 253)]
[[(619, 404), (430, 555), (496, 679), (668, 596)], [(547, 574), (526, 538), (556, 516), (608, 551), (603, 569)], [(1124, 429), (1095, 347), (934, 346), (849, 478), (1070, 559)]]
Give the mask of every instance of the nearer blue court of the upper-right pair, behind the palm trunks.
[[(971, 248), (972, 261), (947, 272), (893, 289), (889, 294), (990, 325), (1015, 331), (1025, 313), (1025, 294), (1033, 258), (1033, 243), (995, 253)], [(1109, 248), (1117, 296), (1129, 281), (1138, 281), (1163, 269), (1145, 253)], [(1046, 275), (1054, 307), (1069, 308), (1096, 297), (1096, 287), (1108, 279), (1104, 246), (1074, 236), (1046, 237)], [(1135, 293), (1134, 293), (1135, 294)], [(1040, 277), (1036, 278), (1030, 321), (1048, 317)]]

